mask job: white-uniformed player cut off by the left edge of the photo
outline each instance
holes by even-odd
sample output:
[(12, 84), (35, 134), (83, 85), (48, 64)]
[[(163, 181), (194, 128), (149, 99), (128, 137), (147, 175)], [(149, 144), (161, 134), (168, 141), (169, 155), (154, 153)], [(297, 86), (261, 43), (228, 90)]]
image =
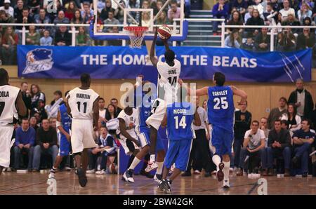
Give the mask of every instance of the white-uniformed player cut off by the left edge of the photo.
[(27, 108), (20, 88), (8, 84), (8, 72), (0, 68), (0, 175), (10, 166), (10, 149), (14, 143), (13, 132), (18, 115), (25, 116)]

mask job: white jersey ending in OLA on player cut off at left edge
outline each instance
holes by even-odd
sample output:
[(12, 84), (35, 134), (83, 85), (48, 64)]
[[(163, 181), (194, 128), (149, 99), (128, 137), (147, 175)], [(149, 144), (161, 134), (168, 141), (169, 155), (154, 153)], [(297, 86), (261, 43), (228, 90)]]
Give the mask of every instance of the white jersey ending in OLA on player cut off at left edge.
[(18, 120), (18, 109), (15, 101), (20, 92), (20, 88), (4, 85), (0, 86), (0, 125), (13, 123)]

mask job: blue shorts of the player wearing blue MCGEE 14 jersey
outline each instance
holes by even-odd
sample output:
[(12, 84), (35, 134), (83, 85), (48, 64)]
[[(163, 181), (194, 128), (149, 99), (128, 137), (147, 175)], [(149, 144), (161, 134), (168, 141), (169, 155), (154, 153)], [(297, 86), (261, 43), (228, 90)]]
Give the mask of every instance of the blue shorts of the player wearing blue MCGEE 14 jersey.
[(164, 159), (164, 166), (171, 168), (176, 163), (176, 168), (181, 171), (187, 170), (190, 159), (192, 140), (169, 140), (169, 147)]

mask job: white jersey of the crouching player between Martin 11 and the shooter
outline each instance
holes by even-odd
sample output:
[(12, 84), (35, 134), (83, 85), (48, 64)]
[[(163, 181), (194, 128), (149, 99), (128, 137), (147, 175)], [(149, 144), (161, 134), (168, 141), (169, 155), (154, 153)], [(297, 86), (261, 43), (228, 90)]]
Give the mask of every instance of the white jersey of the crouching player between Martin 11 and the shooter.
[[(135, 133), (135, 127), (136, 127), (136, 117), (137, 117), (137, 109), (133, 108), (133, 113), (129, 116), (128, 114), (125, 113), (124, 109), (119, 113), (119, 116), (117, 116), (118, 119), (123, 119), (125, 121), (125, 126), (126, 126), (126, 131), (133, 137), (134, 139), (137, 140), (137, 136)], [(117, 128), (117, 134), (120, 134), (121, 130)], [(121, 140), (125, 140), (126, 137), (124, 135), (120, 135)]]

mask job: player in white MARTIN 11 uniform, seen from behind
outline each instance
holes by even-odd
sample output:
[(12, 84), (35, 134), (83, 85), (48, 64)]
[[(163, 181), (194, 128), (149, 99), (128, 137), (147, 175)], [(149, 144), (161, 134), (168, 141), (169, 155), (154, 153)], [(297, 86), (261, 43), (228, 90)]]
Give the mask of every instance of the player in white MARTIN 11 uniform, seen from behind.
[(86, 187), (86, 169), (88, 166), (88, 149), (96, 147), (93, 131), (98, 127), (99, 95), (90, 88), (89, 74), (81, 74), (81, 87), (68, 93), (66, 104), (68, 114), (72, 115), (72, 153), (76, 162), (77, 175), (81, 187)]

